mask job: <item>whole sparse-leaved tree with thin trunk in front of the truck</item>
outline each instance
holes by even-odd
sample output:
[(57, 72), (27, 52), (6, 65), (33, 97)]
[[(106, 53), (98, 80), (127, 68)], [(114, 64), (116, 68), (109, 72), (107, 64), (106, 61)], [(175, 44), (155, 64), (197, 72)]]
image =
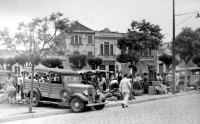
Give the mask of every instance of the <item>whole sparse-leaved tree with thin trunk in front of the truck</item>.
[[(62, 18), (60, 12), (52, 13), (49, 17), (35, 18), (31, 22), (25, 24), (19, 23), (18, 31), (14, 38), (11, 38), (8, 31), (1, 32), (4, 45), (9, 49), (17, 50), (17, 46), (23, 47), (26, 55), (29, 57), (32, 66), (32, 77), (34, 74), (34, 66), (37, 64), (49, 50), (53, 48), (56, 42), (54, 39), (58, 32), (68, 32), (71, 24), (67, 18)], [(31, 84), (29, 112), (32, 112), (33, 102), (33, 78)]]

